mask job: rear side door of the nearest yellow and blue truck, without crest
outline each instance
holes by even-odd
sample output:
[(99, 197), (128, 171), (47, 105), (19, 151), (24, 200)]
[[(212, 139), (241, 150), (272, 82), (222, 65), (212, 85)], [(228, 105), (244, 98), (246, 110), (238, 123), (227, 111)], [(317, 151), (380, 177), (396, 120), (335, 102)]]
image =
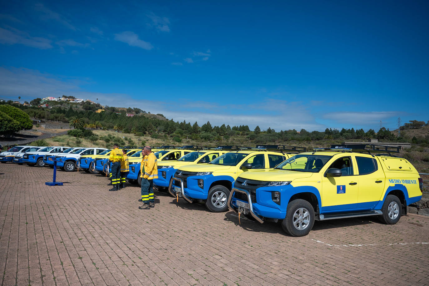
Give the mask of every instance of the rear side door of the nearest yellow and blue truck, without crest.
[(386, 177), (383, 169), (378, 166), (373, 157), (356, 155), (356, 163), (359, 177), (359, 196), (357, 208), (372, 209), (382, 200)]

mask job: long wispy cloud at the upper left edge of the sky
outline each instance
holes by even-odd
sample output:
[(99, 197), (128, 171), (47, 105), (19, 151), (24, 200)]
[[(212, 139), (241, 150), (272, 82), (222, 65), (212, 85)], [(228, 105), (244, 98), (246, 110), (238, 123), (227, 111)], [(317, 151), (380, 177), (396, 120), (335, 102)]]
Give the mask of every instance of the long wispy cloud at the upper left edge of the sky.
[(0, 28), (0, 43), (7, 45), (21, 44), (33, 48), (49, 49), (52, 48), (51, 40), (32, 37), (27, 32), (23, 32), (12, 27), (9, 30)]

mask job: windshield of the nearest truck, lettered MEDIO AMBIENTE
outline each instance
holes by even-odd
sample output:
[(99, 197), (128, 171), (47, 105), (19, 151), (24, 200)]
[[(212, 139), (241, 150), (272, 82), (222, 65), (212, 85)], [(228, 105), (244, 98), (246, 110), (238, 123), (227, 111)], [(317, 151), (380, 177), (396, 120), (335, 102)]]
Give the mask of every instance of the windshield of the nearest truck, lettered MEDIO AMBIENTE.
[(332, 156), (326, 155), (298, 154), (280, 163), (274, 169), (317, 173), (331, 158)]

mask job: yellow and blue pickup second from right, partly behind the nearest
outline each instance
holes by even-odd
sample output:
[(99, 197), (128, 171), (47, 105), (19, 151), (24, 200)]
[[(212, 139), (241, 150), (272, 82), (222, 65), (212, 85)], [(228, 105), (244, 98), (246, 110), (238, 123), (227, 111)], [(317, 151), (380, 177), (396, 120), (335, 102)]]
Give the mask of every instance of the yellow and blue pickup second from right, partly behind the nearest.
[(227, 198), (233, 182), (250, 169), (274, 168), (293, 156), (286, 151), (302, 152), (296, 146), (264, 145), (257, 148), (219, 146), (227, 152), (210, 163), (181, 166), (170, 181), (168, 190), (172, 196), (183, 197), (187, 202), (202, 202), (209, 211), (228, 210)]

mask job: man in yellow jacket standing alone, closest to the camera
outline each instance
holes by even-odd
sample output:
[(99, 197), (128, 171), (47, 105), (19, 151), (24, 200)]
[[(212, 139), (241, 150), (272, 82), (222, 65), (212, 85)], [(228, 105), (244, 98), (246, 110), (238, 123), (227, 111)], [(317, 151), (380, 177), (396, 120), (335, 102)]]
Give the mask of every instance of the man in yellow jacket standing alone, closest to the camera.
[[(158, 178), (158, 163), (157, 157), (152, 152), (149, 146), (143, 148), (145, 157), (142, 159), (140, 167), (142, 178), (142, 202), (143, 205), (139, 207), (141, 210), (147, 210), (155, 207), (154, 191), (153, 191), (153, 179)], [(143, 172), (144, 170), (144, 172)]]

